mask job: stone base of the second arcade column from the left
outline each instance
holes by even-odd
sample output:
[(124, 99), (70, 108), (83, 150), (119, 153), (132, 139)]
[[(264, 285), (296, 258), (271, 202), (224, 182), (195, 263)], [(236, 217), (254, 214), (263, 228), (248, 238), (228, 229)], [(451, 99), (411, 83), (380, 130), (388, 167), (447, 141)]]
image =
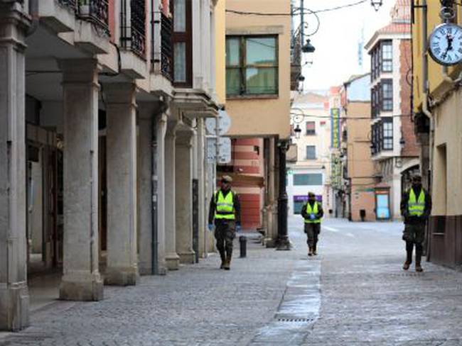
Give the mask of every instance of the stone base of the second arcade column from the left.
[(67, 274), (60, 284), (60, 299), (64, 301), (101, 301), (103, 282), (100, 274)]

